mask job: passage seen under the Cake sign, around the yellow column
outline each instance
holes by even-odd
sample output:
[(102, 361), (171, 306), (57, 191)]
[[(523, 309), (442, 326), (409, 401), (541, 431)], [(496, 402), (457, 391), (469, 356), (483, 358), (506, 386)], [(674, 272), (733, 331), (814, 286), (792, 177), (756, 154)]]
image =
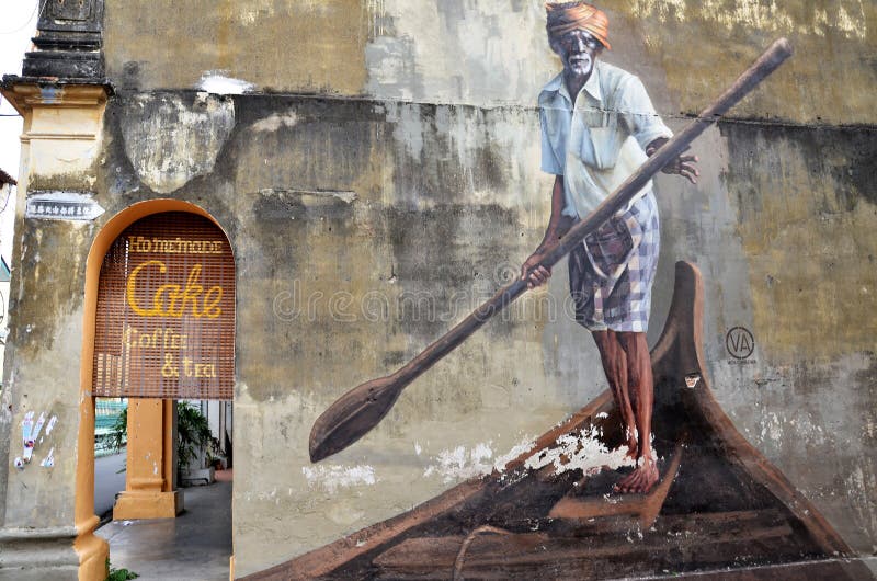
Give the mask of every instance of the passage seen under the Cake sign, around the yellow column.
[[(114, 520), (115, 499), (125, 490), (127, 434), (119, 438), (118, 428), (126, 424), (127, 401), (96, 398), (94, 506), (101, 525), (95, 534), (109, 543), (117, 577), (128, 571), (143, 579), (226, 580), (232, 554), (232, 406), (214, 400), (174, 405), (182, 512), (175, 519)], [(193, 437), (198, 432), (202, 436)]]

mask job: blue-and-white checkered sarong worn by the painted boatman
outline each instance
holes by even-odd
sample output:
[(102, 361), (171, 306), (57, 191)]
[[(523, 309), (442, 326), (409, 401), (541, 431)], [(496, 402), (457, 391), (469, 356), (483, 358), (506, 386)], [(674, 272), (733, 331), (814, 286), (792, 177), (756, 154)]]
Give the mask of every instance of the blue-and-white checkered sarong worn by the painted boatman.
[(569, 253), (570, 294), (580, 324), (591, 331), (648, 329), (660, 238), (658, 206), (649, 191)]

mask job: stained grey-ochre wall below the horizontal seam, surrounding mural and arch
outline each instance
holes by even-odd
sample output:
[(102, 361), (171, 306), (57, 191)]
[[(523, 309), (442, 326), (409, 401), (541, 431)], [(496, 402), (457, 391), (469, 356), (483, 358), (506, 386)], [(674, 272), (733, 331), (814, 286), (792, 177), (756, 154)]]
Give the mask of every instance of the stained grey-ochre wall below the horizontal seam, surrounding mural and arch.
[[(197, 107), (201, 98), (138, 94), (121, 96), (111, 107), (107, 203), (122, 208), (152, 195), (143, 184), (133, 192), (130, 146), (121, 141), (127, 124), (143, 122), (128, 107), (169, 99)], [(225, 101), (223, 110), (231, 99)], [(227, 227), (238, 258), (235, 542), (238, 571), (246, 573), (490, 469), (604, 386), (593, 373), (599, 362), (590, 339), (566, 315), (561, 267), (547, 294), (525, 299), (510, 320), (490, 323), (419, 380), (375, 433), (311, 466), (307, 436), (326, 406), (407, 361), (516, 271), (542, 233), (550, 180), (537, 168), (532, 110), (287, 96), (235, 98), (234, 110), (235, 129), (216, 169), (174, 195), (210, 210)], [(824, 147), (801, 149), (804, 136), (824, 140)], [(759, 140), (791, 169), (765, 172), (748, 161)], [(834, 172), (839, 178), (820, 193), (785, 185), (787, 174), (810, 180), (801, 169), (822, 163), (820, 153), (832, 148), (835, 166), (868, 158), (865, 143), (873, 139), (864, 128), (731, 122), (710, 130), (698, 147), (705, 158), (699, 186), (658, 181), (664, 254), (652, 333), (670, 298), (672, 261), (695, 260), (709, 287), (706, 349), (721, 403), (848, 542), (868, 552), (874, 356), (866, 342), (873, 334), (851, 330), (833, 348), (812, 341), (819, 335), (810, 326), (831, 328), (836, 309), (820, 310), (818, 301), (811, 306), (774, 290), (799, 269), (830, 272), (839, 251), (828, 242), (840, 232), (751, 248), (777, 221), (753, 207), (783, 200), (786, 215), (805, 206), (794, 223), (805, 231), (827, 212), (848, 214), (835, 216), (841, 221), (857, 213), (858, 219), (873, 219), (872, 193), (867, 186), (855, 190), (845, 171)], [(186, 155), (164, 151), (166, 159)], [(768, 159), (764, 163), (774, 168)], [(822, 170), (815, 180), (832, 175)], [(870, 292), (873, 274), (859, 249), (870, 244), (873, 253), (875, 241), (870, 230), (853, 231), (864, 239), (843, 254), (848, 276), (866, 280), (847, 292)], [(807, 264), (797, 258), (801, 251), (811, 257)], [(773, 258), (777, 252), (785, 258)], [(808, 292), (835, 287), (831, 277), (816, 276)], [(761, 305), (771, 299), (783, 306)], [(795, 309), (786, 306), (789, 300), (801, 303)], [(793, 316), (804, 309), (811, 317), (824, 312), (824, 319)], [(861, 314), (845, 316), (873, 328)], [(755, 335), (754, 365), (730, 363), (725, 333), (738, 324)], [(807, 327), (796, 330), (798, 324)], [(777, 337), (784, 327), (786, 343)], [(834, 328), (843, 337), (844, 326)], [(804, 346), (796, 346), (795, 337), (807, 339), (799, 341)], [(854, 337), (862, 342), (852, 343)], [(813, 457), (832, 463), (804, 462)]]

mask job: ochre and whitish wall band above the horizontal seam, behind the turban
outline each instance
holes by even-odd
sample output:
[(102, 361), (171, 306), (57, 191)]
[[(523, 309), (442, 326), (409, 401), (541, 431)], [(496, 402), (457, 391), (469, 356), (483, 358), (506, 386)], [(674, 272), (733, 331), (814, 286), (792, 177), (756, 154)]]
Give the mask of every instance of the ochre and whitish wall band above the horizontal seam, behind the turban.
[[(168, 4), (169, 7), (170, 4)], [(778, 36), (797, 58), (736, 112), (873, 123), (877, 7), (862, 0), (613, 0), (612, 57), (668, 79), (662, 113), (701, 111)], [(255, 91), (471, 104), (535, 101), (551, 53), (543, 2), (107, 0), (106, 69), (129, 88), (193, 89), (205, 75)], [(838, 66), (843, 62), (844, 66)], [(656, 95), (657, 96), (657, 95)], [(660, 102), (659, 96), (659, 102)]]

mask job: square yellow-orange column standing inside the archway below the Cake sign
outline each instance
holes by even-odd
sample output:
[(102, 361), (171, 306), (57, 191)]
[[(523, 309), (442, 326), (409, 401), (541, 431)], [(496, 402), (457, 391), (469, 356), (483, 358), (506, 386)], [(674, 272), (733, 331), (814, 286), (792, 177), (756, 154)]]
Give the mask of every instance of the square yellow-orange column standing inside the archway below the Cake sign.
[(113, 519), (172, 519), (183, 510), (174, 490), (174, 402), (128, 400), (128, 459), (125, 491), (113, 506)]

